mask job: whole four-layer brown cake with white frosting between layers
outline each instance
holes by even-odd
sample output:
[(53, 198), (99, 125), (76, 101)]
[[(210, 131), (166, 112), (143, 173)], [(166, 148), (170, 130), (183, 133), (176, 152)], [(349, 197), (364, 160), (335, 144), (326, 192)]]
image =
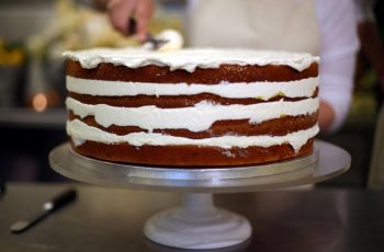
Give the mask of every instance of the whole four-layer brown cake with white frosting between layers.
[(313, 150), (318, 57), (210, 48), (99, 48), (64, 56), (67, 133), (80, 154), (219, 168)]

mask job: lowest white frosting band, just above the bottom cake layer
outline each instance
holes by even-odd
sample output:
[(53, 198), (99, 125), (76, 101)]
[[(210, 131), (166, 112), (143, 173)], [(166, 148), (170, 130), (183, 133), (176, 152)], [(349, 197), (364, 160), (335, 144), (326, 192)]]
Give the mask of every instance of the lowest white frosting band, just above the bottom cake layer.
[(99, 128), (88, 126), (79, 119), (67, 122), (67, 133), (75, 142), (81, 144), (84, 140), (92, 140), (105, 144), (128, 142), (132, 146), (140, 147), (168, 146), (168, 145), (194, 145), (212, 146), (229, 149), (231, 147), (247, 148), (251, 146), (270, 147), (289, 142), (295, 151), (307, 142), (309, 138), (316, 136), (319, 131), (318, 125), (312, 128), (291, 133), (285, 136), (222, 136), (204, 139), (191, 139), (185, 137), (174, 137), (156, 133), (131, 133), (124, 136), (106, 133)]

